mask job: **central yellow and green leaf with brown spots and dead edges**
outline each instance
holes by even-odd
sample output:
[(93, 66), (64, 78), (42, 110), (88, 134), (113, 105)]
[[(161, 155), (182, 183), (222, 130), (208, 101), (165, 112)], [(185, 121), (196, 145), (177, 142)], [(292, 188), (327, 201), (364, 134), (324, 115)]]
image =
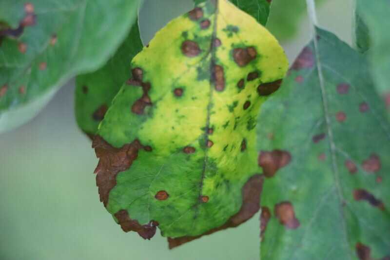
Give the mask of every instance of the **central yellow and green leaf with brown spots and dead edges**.
[(158, 225), (174, 247), (251, 218), (255, 118), (287, 66), (276, 39), (225, 0), (160, 30), (93, 143), (100, 200), (122, 229), (150, 239)]

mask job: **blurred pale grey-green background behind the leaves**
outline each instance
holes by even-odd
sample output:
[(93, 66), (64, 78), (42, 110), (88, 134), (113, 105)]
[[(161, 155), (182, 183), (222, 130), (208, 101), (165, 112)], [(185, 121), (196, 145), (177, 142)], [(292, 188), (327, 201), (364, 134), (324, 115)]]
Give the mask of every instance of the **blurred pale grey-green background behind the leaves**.
[[(288, 14), (280, 10), (288, 6), (273, 1), (279, 8), (274, 13)], [(321, 26), (351, 43), (352, 0), (322, 2)], [(192, 6), (192, 0), (146, 0), (140, 10), (143, 41)], [(284, 26), (289, 19), (271, 9), (269, 26)], [(310, 39), (306, 16), (299, 28), (292, 39), (281, 41), (290, 62)], [(275, 33), (286, 39), (293, 32)], [(98, 160), (76, 125), (74, 87), (70, 80), (37, 118), (0, 135), (0, 260), (259, 259), (258, 215), (171, 251), (158, 231), (151, 241), (122, 232), (98, 199), (92, 174)]]

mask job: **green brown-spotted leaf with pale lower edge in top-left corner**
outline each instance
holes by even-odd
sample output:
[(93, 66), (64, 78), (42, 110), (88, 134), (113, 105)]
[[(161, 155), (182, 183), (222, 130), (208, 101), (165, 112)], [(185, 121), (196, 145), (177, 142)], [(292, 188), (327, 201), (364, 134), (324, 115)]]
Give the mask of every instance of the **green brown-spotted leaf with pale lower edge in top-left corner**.
[(138, 2), (1, 1), (0, 132), (33, 118), (65, 81), (106, 61)]

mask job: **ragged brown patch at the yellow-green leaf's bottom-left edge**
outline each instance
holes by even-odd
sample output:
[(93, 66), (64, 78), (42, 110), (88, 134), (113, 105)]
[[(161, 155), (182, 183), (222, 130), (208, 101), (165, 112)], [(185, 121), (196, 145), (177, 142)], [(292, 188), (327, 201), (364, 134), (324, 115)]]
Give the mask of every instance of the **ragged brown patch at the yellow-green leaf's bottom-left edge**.
[(150, 240), (156, 234), (157, 221), (150, 220), (148, 224), (141, 225), (137, 220), (130, 219), (129, 213), (124, 209), (115, 213), (115, 217), (124, 232), (135, 231), (139, 236), (147, 240)]

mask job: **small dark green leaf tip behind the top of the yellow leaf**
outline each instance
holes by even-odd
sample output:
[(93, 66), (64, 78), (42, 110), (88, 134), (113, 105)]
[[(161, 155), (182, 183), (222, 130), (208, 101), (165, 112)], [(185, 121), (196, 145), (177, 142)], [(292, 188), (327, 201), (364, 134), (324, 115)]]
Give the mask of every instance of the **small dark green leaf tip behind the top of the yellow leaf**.
[[(195, 4), (206, 0), (194, 0)], [(251, 15), (262, 25), (266, 25), (270, 15), (271, 0), (230, 0), (242, 11)]]

